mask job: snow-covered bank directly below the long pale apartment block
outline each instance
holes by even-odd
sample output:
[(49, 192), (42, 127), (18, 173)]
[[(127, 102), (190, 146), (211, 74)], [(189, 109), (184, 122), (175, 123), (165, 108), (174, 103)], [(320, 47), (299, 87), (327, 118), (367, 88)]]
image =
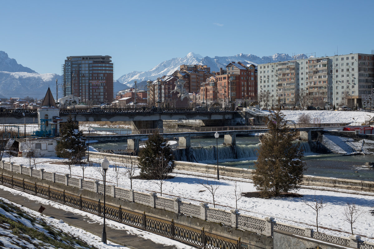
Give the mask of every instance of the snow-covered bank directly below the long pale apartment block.
[[(269, 111), (262, 111), (269, 113)], [(298, 123), (298, 118), (302, 114), (309, 115), (311, 123), (353, 123), (354, 125), (362, 124), (374, 117), (371, 112), (356, 111), (286, 111), (282, 110), (286, 115), (285, 119)], [(357, 123), (357, 124), (356, 124)]]

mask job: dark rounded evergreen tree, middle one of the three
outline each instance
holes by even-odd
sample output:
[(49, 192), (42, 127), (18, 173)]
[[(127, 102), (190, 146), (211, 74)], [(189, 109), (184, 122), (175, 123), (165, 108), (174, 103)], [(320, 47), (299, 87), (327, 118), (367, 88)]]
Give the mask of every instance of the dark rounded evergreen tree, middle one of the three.
[(140, 177), (157, 179), (166, 177), (174, 169), (174, 156), (168, 141), (154, 133), (148, 136), (145, 147), (139, 152)]

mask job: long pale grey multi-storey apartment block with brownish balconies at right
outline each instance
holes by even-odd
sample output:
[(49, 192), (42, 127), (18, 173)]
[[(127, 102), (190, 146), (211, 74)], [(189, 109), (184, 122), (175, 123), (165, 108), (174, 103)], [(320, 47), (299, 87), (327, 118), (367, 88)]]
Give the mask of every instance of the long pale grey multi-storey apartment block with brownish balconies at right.
[(362, 106), (374, 87), (374, 55), (349, 54), (258, 65), (261, 107)]

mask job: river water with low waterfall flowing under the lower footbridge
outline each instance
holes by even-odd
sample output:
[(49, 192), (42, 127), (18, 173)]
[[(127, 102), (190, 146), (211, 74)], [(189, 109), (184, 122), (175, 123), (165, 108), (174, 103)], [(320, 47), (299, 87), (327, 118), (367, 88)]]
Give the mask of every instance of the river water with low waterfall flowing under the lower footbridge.
[[(175, 141), (175, 140), (174, 140)], [(218, 138), (218, 164), (239, 168), (254, 169), (257, 159), (258, 137), (237, 136), (236, 155), (233, 156), (230, 146), (223, 145), (223, 136)], [(144, 143), (141, 141), (140, 144)], [(172, 142), (173, 143), (173, 142)], [(92, 143), (98, 150), (126, 150), (126, 142)], [(217, 164), (216, 140), (214, 137), (191, 138), (190, 159), (205, 164)], [(174, 142), (175, 159), (187, 161), (184, 152), (177, 150), (178, 143)], [(306, 175), (323, 177), (346, 178), (355, 180), (374, 181), (374, 168), (365, 165), (365, 162), (374, 162), (374, 155), (343, 156), (338, 154), (319, 154), (310, 151), (309, 144), (300, 143), (304, 149), (304, 160), (307, 164)]]

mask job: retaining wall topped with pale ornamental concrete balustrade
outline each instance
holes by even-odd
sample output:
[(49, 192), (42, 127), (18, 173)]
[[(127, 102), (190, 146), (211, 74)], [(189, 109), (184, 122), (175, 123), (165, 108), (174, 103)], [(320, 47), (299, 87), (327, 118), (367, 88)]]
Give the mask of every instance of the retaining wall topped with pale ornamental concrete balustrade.
[[(109, 157), (110, 154), (107, 155), (109, 160), (113, 160)], [(118, 155), (113, 155), (113, 157), (119, 158)], [(5, 161), (0, 162), (0, 171), (2, 175), (19, 180), (24, 179), (30, 183), (35, 182), (35, 184), (45, 187), (53, 186), (56, 189), (64, 189), (68, 193), (82, 194), (82, 197), (90, 199), (100, 199), (104, 192), (104, 186), (98, 180), (90, 181), (82, 178), (73, 178), (69, 177), (68, 174), (61, 175), (54, 172), (46, 172), (44, 169), (37, 170), (33, 167), (15, 165)], [(243, 215), (237, 209), (227, 211), (210, 208), (207, 203), (196, 205), (181, 201), (179, 198), (157, 196), (156, 193), (138, 192), (110, 184), (106, 185), (105, 190), (108, 195), (107, 202), (109, 205), (121, 205), (134, 211), (145, 211), (163, 219), (172, 218), (175, 221), (178, 220), (181, 224), (197, 229), (204, 227), (206, 231), (233, 239), (241, 237), (243, 242), (253, 245), (254, 247), (252, 248), (272, 248), (273, 242), (270, 236), (273, 236), (274, 231), (285, 231), (293, 235), (298, 234), (329, 243), (337, 243), (338, 245), (349, 245), (352, 248), (374, 249), (373, 243), (365, 243), (360, 240), (359, 236), (350, 236), (348, 238), (315, 233), (311, 228), (276, 222), (272, 217), (259, 218)], [(354, 239), (357, 240), (356, 244), (352, 242)]]

